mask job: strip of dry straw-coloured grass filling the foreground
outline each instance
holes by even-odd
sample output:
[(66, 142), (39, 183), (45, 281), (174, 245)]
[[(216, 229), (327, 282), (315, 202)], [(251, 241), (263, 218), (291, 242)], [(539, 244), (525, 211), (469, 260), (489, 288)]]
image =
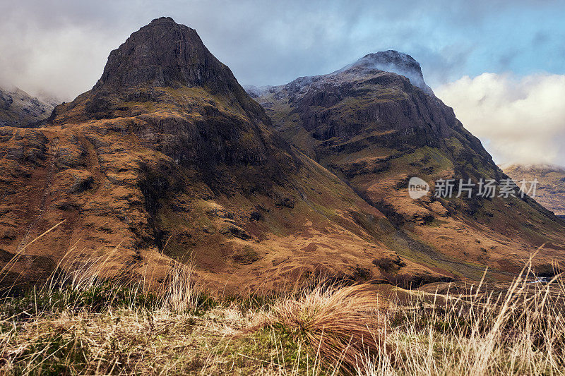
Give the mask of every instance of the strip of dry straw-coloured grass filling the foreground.
[(565, 288), (525, 275), (499, 293), (321, 283), (213, 298), (182, 265), (151, 293), (69, 274), (4, 298), (0, 373), (560, 375)]

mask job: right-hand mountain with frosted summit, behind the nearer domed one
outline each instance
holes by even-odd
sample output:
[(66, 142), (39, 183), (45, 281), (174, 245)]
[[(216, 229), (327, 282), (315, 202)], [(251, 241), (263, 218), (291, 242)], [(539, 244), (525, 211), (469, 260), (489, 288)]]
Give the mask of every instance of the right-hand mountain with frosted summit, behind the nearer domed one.
[[(391, 70), (410, 79), (381, 71), (384, 56), (397, 56)], [(534, 200), (499, 198), (499, 190), (477, 197), (480, 179), (501, 185), (507, 177), (428, 90), (410, 56), (369, 54), (328, 75), (251, 89), (281, 135), (386, 214), (398, 232), (382, 241), (408, 259), (472, 277), (477, 264), (514, 272), (542, 243), (544, 262), (562, 257), (564, 226)], [(412, 176), (432, 192), (412, 200)], [(438, 179), (476, 186), (470, 198), (436, 198)]]

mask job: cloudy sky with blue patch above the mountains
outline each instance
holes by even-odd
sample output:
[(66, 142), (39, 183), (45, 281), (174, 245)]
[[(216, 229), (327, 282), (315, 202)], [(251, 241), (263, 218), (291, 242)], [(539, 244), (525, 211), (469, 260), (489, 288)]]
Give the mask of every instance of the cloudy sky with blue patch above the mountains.
[(1, 1), (0, 84), (72, 99), (159, 16), (195, 28), (242, 84), (406, 52), (496, 162), (565, 165), (564, 1)]

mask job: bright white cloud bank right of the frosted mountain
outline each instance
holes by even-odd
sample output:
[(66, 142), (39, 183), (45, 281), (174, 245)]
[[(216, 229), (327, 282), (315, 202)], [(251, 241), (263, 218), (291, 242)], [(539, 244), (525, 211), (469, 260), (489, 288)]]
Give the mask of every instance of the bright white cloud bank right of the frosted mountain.
[(565, 165), (565, 75), (483, 73), (434, 92), (495, 162)]

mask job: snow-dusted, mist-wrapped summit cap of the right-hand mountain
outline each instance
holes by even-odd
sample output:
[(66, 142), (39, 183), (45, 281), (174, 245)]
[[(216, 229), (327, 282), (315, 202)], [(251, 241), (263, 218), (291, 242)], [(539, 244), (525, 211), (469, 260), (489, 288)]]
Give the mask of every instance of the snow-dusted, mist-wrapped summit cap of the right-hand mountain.
[(432, 88), (429, 87), (424, 81), (422, 75), (422, 68), (412, 56), (394, 50), (379, 51), (374, 54), (367, 54), (361, 59), (346, 66), (340, 71), (347, 71), (349, 69), (378, 69), (379, 71), (393, 72), (403, 75), (410, 80), (412, 85), (420, 87), (429, 95), (433, 95)]

